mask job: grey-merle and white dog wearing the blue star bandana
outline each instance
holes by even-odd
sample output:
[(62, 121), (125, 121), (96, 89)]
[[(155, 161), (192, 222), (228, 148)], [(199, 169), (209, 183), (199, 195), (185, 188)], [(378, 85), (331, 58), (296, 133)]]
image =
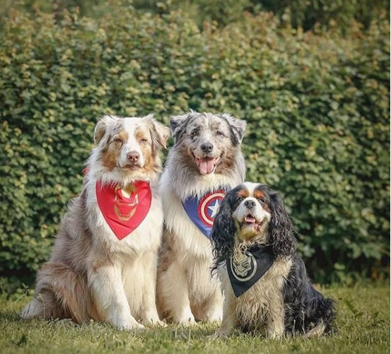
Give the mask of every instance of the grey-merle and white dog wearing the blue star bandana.
[(158, 266), (157, 304), (161, 317), (192, 325), (194, 319), (219, 321), (223, 297), (211, 278), (209, 233), (226, 190), (243, 182), (240, 143), (245, 122), (229, 114), (172, 117), (175, 146), (161, 178), (165, 214)]

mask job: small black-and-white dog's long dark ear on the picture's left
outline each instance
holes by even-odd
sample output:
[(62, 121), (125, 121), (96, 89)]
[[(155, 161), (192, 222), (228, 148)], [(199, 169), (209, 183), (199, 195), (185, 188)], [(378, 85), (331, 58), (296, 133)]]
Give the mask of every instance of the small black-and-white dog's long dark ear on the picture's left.
[(233, 246), (235, 244), (235, 222), (232, 217), (233, 198), (235, 192), (229, 191), (221, 202), (220, 208), (211, 232), (211, 242), (214, 254), (213, 270), (219, 264), (233, 255)]

